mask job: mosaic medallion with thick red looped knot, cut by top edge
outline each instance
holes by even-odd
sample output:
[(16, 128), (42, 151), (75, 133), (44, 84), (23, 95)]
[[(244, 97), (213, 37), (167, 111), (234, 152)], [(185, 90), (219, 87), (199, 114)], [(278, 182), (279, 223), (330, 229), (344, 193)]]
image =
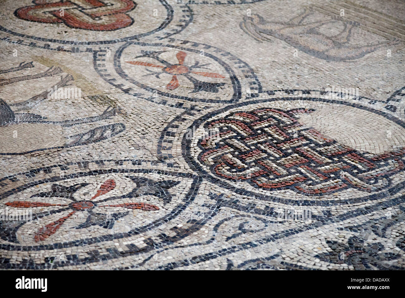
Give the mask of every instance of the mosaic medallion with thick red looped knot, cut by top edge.
[(173, 8), (165, 0), (25, 0), (6, 1), (3, 6), (7, 7), (0, 21), (4, 39), (74, 52), (85, 51), (89, 45), (166, 38), (192, 20), (188, 6), (175, 4)]

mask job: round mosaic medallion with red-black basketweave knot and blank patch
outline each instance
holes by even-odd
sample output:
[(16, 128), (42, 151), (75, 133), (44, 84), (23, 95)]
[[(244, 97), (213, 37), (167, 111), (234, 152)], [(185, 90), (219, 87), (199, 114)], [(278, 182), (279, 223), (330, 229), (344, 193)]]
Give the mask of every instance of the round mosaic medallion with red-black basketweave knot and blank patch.
[(226, 189), (322, 204), (403, 189), (404, 127), (358, 104), (291, 97), (213, 111), (181, 135), (190, 167)]

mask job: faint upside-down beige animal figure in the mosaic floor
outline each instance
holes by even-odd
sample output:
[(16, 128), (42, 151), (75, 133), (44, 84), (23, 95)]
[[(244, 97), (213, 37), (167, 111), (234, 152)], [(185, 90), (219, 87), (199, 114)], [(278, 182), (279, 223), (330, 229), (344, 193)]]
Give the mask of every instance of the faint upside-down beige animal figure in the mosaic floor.
[[(336, 17), (309, 20), (313, 15), (314, 11), (305, 9), (304, 13), (287, 22), (266, 21), (260, 15), (245, 16), (240, 26), (258, 41), (271, 41), (271, 37), (275, 37), (311, 56), (328, 61), (358, 59), (388, 42), (397, 42), (392, 40), (367, 45), (351, 43), (353, 28), (358, 28), (358, 23)], [(335, 32), (336, 28), (340, 28), (340, 32)]]

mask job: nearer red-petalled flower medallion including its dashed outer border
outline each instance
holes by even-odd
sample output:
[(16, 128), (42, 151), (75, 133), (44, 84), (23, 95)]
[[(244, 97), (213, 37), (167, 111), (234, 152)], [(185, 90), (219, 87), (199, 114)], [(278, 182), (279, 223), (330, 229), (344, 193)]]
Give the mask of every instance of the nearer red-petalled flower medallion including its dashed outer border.
[(121, 249), (139, 253), (176, 241), (171, 228), (194, 200), (198, 178), (166, 164), (94, 161), (35, 169), (0, 183), (1, 249), (36, 251), (38, 263), (55, 248), (114, 250), (121, 239)]

